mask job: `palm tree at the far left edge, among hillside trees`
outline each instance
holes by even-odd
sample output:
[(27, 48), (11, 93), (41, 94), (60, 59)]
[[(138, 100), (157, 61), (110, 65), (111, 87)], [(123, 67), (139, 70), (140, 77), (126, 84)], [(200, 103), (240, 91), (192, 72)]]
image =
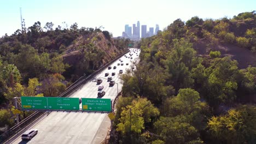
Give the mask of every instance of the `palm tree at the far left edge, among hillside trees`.
[(20, 79), (20, 71), (14, 64), (8, 64), (3, 68), (4, 78), (9, 80), (9, 86), (14, 88), (14, 83)]

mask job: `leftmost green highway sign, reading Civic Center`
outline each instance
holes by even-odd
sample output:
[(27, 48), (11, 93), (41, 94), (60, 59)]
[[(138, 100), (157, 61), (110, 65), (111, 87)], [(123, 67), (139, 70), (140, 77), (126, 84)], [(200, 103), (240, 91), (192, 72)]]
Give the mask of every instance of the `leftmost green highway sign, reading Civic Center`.
[(48, 109), (46, 97), (21, 97), (22, 109)]

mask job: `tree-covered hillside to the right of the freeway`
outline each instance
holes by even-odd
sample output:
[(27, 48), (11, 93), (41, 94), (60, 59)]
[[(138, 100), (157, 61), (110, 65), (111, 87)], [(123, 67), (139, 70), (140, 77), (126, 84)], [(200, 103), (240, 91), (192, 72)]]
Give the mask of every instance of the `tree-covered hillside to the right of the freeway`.
[[(122, 76), (109, 142), (256, 143), (256, 67), (240, 69), (214, 50), (231, 44), (255, 52), (255, 27), (255, 11), (233, 19), (195, 16), (142, 39), (136, 70)], [(210, 57), (193, 49), (199, 41)]]

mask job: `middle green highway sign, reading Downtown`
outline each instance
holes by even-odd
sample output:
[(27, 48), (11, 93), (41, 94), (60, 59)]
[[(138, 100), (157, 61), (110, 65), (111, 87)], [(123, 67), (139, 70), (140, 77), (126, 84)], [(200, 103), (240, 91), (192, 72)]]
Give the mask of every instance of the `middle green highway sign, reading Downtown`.
[(48, 97), (49, 110), (79, 110), (79, 98)]

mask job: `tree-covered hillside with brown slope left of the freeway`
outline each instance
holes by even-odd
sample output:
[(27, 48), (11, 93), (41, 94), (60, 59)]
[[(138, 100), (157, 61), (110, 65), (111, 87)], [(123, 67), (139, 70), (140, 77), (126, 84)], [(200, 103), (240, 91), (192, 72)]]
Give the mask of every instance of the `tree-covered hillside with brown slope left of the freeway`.
[[(64, 23), (65, 24), (65, 23)], [(123, 53), (129, 39), (113, 39), (101, 28), (44, 27), (35, 22), (0, 39), (0, 134), (15, 124), (13, 98), (57, 97), (80, 76)], [(79, 71), (79, 73), (78, 73)], [(23, 112), (20, 120), (31, 112)]]

